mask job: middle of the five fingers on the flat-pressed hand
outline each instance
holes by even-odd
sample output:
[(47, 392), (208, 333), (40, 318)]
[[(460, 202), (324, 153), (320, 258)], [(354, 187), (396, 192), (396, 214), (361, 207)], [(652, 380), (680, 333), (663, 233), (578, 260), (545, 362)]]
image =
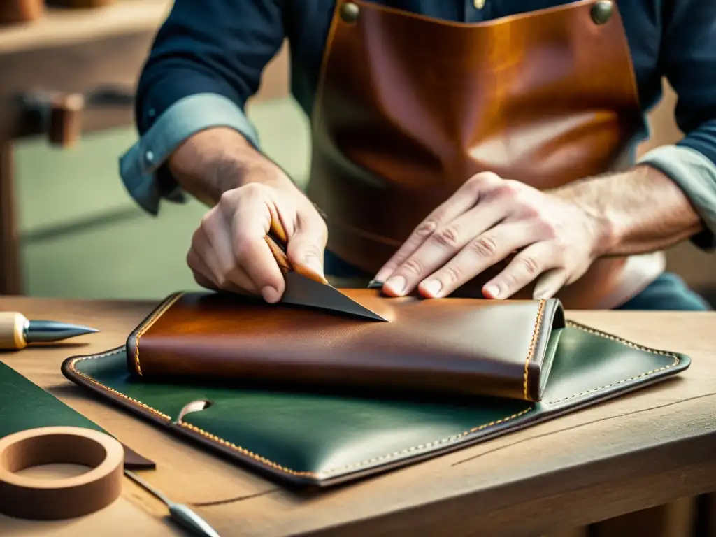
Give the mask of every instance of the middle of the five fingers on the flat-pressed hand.
[(470, 241), (458, 255), (420, 282), (420, 294), (437, 299), (502, 261), (511, 252), (536, 241), (538, 232), (526, 223), (502, 223)]

